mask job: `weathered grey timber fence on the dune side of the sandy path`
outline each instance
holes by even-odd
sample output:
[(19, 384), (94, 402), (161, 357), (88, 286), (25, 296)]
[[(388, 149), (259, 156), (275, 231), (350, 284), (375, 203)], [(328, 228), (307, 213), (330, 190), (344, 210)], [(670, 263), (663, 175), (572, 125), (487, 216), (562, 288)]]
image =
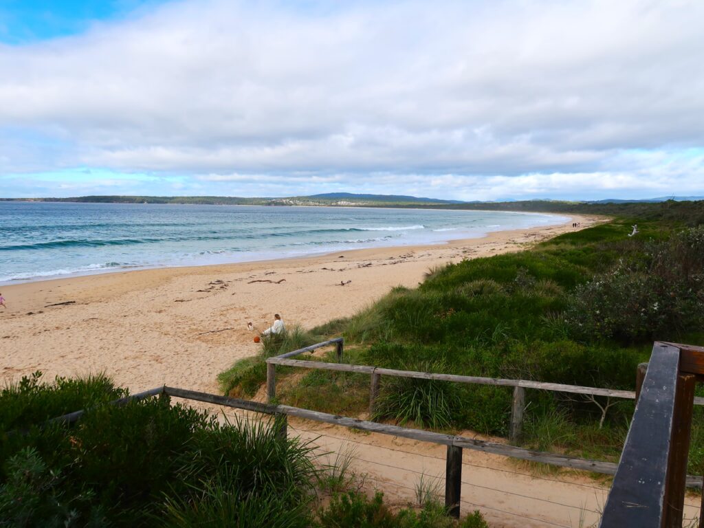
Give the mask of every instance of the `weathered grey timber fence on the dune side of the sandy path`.
[[(338, 363), (324, 361), (310, 361), (291, 359), (303, 353), (313, 352), (334, 344), (337, 346)], [(543, 391), (565, 392), (570, 394), (584, 394), (587, 396), (605, 396), (607, 398), (623, 398), (633, 400), (636, 398), (634, 391), (621, 391), (616, 389), (601, 389), (599, 387), (565, 385), (560, 383), (535, 382), (529, 379), (503, 379), (494, 377), (461, 376), (454, 374), (439, 374), (436, 372), (415, 372), (412, 370), (396, 370), (391, 368), (375, 367), (372, 365), (349, 365), (341, 363), (344, 350), (344, 339), (338, 337), (323, 341), (322, 343), (299, 348), (280, 356), (266, 360), (267, 363), (267, 398), (273, 401), (276, 396), (276, 365), (287, 367), (308, 368), (313, 370), (337, 370), (339, 372), (358, 372), (371, 375), (369, 393), (369, 413), (374, 413), (375, 402), (379, 395), (379, 384), (382, 376), (410, 377), (417, 379), (433, 379), (436, 381), (469, 383), (478, 385), (512, 386), (513, 405), (511, 406), (511, 421), (508, 441), (516, 443), (520, 440), (523, 428), (523, 411), (525, 406), (525, 389), (539, 389)], [(694, 398), (695, 405), (704, 405), (704, 398)]]

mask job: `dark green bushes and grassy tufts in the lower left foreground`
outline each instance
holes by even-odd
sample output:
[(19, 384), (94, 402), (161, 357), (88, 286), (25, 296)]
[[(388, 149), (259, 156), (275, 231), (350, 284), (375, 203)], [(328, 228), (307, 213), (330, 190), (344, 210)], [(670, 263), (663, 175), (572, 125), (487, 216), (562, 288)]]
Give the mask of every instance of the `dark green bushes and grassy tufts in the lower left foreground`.
[[(23, 394), (51, 394), (51, 406), (68, 401), (63, 391), (84, 393), (82, 384), (90, 382), (25, 383)], [(113, 394), (111, 383), (103, 387), (94, 399)], [(16, 402), (17, 394), (4, 396)], [(217, 525), (233, 512), (241, 526), (312, 522), (311, 450), (282, 439), (280, 425), (221, 425), (165, 396), (89, 407), (74, 425), (24, 425), (0, 436), (0, 526), (184, 526), (206, 513)]]

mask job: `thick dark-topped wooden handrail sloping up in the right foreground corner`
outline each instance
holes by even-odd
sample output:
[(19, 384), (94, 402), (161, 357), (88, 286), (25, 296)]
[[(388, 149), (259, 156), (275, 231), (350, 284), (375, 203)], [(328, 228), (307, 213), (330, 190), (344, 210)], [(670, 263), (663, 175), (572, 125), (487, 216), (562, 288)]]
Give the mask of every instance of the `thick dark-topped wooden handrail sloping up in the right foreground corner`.
[(639, 367), (636, 410), (601, 527), (681, 528), (694, 389), (703, 376), (704, 348), (655, 343), (647, 368)]

